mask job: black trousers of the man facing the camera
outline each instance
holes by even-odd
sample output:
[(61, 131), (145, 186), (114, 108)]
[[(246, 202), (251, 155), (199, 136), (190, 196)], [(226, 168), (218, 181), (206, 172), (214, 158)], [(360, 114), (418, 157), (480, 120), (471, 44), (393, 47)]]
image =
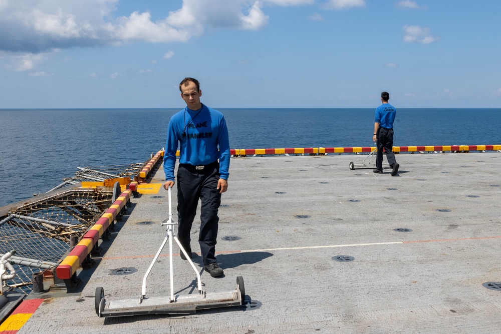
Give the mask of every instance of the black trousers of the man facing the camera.
[(201, 223), (198, 243), (204, 265), (216, 261), (215, 245), (219, 222), (217, 210), (221, 204), (221, 194), (217, 190), (219, 176), (217, 161), (200, 170), (195, 166), (180, 164), (177, 170), (177, 237), (184, 249), (189, 252), (191, 225), (200, 199)]

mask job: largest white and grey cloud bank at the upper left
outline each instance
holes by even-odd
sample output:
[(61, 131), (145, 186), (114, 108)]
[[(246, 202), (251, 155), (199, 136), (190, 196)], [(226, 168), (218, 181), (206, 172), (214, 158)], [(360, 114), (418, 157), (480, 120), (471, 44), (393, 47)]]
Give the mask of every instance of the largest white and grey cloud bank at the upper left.
[(187, 42), (212, 28), (261, 29), (269, 19), (264, 6), (308, 5), (314, 0), (183, 0), (180, 9), (158, 20), (149, 12), (114, 17), (118, 3), (0, 0), (0, 51), (37, 54), (136, 41)]

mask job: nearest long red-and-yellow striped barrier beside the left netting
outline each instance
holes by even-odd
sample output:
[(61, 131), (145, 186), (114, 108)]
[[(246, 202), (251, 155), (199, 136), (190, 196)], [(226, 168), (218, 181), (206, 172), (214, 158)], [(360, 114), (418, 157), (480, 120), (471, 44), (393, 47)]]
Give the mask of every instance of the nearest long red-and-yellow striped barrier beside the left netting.
[(101, 218), (99, 218), (87, 233), (84, 234), (82, 240), (56, 268), (58, 278), (70, 279), (71, 276), (77, 272), (78, 267), (85, 261), (87, 255), (92, 251), (92, 248), (98, 242), (99, 238), (104, 234), (106, 229), (130, 200), (131, 194), (132, 190), (130, 189), (122, 192), (116, 201), (102, 214)]

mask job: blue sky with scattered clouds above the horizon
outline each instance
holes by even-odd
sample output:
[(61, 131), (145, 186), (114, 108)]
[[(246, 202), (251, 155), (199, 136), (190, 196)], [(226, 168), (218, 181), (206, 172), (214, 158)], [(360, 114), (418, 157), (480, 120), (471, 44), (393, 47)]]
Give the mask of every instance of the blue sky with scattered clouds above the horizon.
[(0, 109), (501, 108), (495, 0), (0, 0)]

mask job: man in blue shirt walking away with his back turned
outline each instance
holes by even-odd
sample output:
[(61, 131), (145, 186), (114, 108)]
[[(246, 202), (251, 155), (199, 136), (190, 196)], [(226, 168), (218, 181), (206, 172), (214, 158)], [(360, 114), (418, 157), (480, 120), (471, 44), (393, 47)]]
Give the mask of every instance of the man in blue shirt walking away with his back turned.
[(376, 117), (374, 120), (374, 136), (372, 140), (376, 142), (376, 169), (374, 173), (383, 174), (383, 148), (386, 153), (386, 159), (391, 167), (391, 176), (398, 173), (398, 167), (393, 153), (393, 121), (395, 120), (396, 109), (388, 103), (390, 94), (387, 92), (381, 93), (381, 102), (383, 103), (376, 108)]

